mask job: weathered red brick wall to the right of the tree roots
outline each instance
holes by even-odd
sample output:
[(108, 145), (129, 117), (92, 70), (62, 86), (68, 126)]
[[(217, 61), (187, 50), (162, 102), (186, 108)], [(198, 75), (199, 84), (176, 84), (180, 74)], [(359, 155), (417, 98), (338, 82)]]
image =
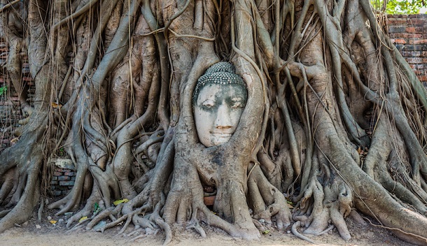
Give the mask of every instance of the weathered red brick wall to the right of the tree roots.
[(388, 35), (427, 86), (427, 14), (388, 15)]

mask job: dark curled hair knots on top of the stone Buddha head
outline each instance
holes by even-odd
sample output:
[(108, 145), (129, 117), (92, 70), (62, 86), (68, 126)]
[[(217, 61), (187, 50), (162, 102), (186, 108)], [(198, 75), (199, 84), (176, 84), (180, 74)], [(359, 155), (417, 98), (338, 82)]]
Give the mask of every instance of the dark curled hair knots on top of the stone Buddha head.
[(204, 86), (209, 84), (218, 85), (241, 85), (246, 88), (246, 83), (235, 73), (235, 66), (227, 61), (220, 61), (207, 69), (204, 75), (197, 80), (196, 87), (193, 92), (193, 105), (197, 101), (197, 96)]

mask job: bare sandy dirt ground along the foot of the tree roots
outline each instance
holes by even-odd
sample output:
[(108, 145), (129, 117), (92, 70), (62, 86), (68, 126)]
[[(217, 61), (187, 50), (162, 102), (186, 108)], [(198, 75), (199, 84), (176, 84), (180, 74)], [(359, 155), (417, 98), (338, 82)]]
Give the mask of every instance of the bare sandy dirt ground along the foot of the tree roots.
[[(43, 215), (49, 216), (49, 215)], [(97, 231), (83, 231), (83, 229), (77, 229), (74, 231), (67, 231), (65, 228), (66, 217), (55, 217), (50, 215), (51, 220), (63, 219), (63, 221), (57, 222), (53, 225), (48, 222), (48, 219), (42, 219), (38, 222), (37, 219), (32, 218), (29, 222), (16, 226), (13, 229), (0, 234), (0, 245), (35, 245), (35, 246), (71, 246), (71, 245), (102, 245), (102, 246), (124, 246), (124, 245), (162, 245), (165, 239), (165, 234), (160, 232), (157, 235), (143, 236), (137, 240), (132, 240), (139, 234), (134, 236), (127, 236), (133, 231), (133, 227), (125, 231), (125, 236), (116, 236), (120, 231), (121, 226), (106, 230), (104, 233)], [(393, 245), (393, 246), (409, 246), (410, 243), (406, 243), (399, 240), (393, 234), (382, 229), (379, 226), (372, 225), (360, 225), (353, 222), (351, 219), (347, 219), (347, 224), (351, 233), (351, 240), (345, 242), (339, 237), (339, 234), (335, 229), (325, 233), (322, 236), (308, 236), (313, 240), (316, 245)], [(301, 240), (293, 236), (290, 231), (270, 231), (269, 233), (262, 235), (258, 241), (246, 241), (233, 239), (225, 232), (220, 229), (214, 229), (211, 226), (203, 226), (207, 233), (206, 238), (202, 238), (193, 230), (185, 230), (182, 227), (175, 227), (173, 229), (174, 235), (172, 243), (169, 245), (186, 245), (186, 246), (220, 246), (220, 245), (314, 245), (307, 241)]]

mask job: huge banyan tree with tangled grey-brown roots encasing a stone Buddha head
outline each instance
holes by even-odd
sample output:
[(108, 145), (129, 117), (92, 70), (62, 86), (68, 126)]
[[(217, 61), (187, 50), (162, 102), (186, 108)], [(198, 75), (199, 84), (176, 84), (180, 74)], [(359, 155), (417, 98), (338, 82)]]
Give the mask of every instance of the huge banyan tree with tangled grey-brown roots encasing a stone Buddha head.
[[(165, 243), (201, 222), (349, 240), (363, 214), (427, 245), (426, 90), (368, 0), (1, 2), (25, 119), (0, 154), (0, 232), (45, 205)], [(59, 150), (76, 182), (43, 204)]]

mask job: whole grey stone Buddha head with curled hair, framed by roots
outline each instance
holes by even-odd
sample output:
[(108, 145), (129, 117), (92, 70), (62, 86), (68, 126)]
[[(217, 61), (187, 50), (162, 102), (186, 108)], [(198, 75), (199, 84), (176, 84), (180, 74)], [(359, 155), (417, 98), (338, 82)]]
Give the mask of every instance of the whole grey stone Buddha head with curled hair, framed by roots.
[(246, 83), (225, 61), (214, 64), (197, 80), (193, 110), (197, 135), (206, 147), (221, 145), (235, 133), (246, 106)]

